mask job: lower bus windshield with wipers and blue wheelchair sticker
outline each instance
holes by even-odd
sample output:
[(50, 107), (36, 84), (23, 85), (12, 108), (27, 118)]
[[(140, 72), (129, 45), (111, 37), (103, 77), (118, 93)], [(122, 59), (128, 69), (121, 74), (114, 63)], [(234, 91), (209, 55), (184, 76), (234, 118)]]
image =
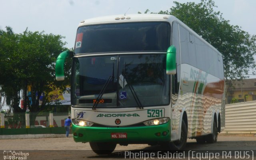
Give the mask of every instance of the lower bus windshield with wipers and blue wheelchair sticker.
[[(161, 106), (170, 103), (166, 54), (74, 58), (72, 105), (97, 108)], [(106, 86), (104, 86), (106, 85)]]

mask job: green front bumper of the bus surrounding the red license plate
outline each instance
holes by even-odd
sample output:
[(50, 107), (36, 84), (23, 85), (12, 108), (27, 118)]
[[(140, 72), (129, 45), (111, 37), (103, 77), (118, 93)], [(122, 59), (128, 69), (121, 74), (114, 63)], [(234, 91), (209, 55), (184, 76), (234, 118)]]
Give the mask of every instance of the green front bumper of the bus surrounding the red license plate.
[[(170, 142), (170, 121), (157, 126), (142, 127), (81, 127), (72, 125), (75, 142), (126, 142), (128, 144), (148, 142)], [(160, 132), (160, 136), (156, 133)], [(162, 133), (167, 132), (164, 136)], [(126, 133), (127, 138), (111, 138), (111, 133)], [(81, 136), (82, 134), (82, 136)], [(80, 136), (81, 137), (80, 137)]]

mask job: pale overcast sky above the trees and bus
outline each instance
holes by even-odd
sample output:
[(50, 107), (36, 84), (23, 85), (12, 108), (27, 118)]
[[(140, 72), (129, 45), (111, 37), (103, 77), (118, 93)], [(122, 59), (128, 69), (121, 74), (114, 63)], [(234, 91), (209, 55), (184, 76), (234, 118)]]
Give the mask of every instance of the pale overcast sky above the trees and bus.
[[(180, 3), (200, 0), (177, 0)], [(256, 0), (214, 0), (217, 10), (230, 24), (256, 34)], [(67, 47), (74, 47), (81, 20), (113, 14), (169, 10), (173, 0), (0, 0), (0, 29), (11, 26), (15, 33), (45, 31), (65, 36)]]

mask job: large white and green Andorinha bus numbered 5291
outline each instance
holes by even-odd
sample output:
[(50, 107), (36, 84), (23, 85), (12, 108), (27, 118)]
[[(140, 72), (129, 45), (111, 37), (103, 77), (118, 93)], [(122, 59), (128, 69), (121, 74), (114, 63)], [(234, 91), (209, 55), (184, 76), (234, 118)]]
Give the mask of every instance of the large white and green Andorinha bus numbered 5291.
[(67, 57), (73, 138), (97, 154), (117, 144), (214, 143), (225, 127), (222, 55), (174, 16), (84, 20), (74, 52), (57, 58), (56, 80)]

